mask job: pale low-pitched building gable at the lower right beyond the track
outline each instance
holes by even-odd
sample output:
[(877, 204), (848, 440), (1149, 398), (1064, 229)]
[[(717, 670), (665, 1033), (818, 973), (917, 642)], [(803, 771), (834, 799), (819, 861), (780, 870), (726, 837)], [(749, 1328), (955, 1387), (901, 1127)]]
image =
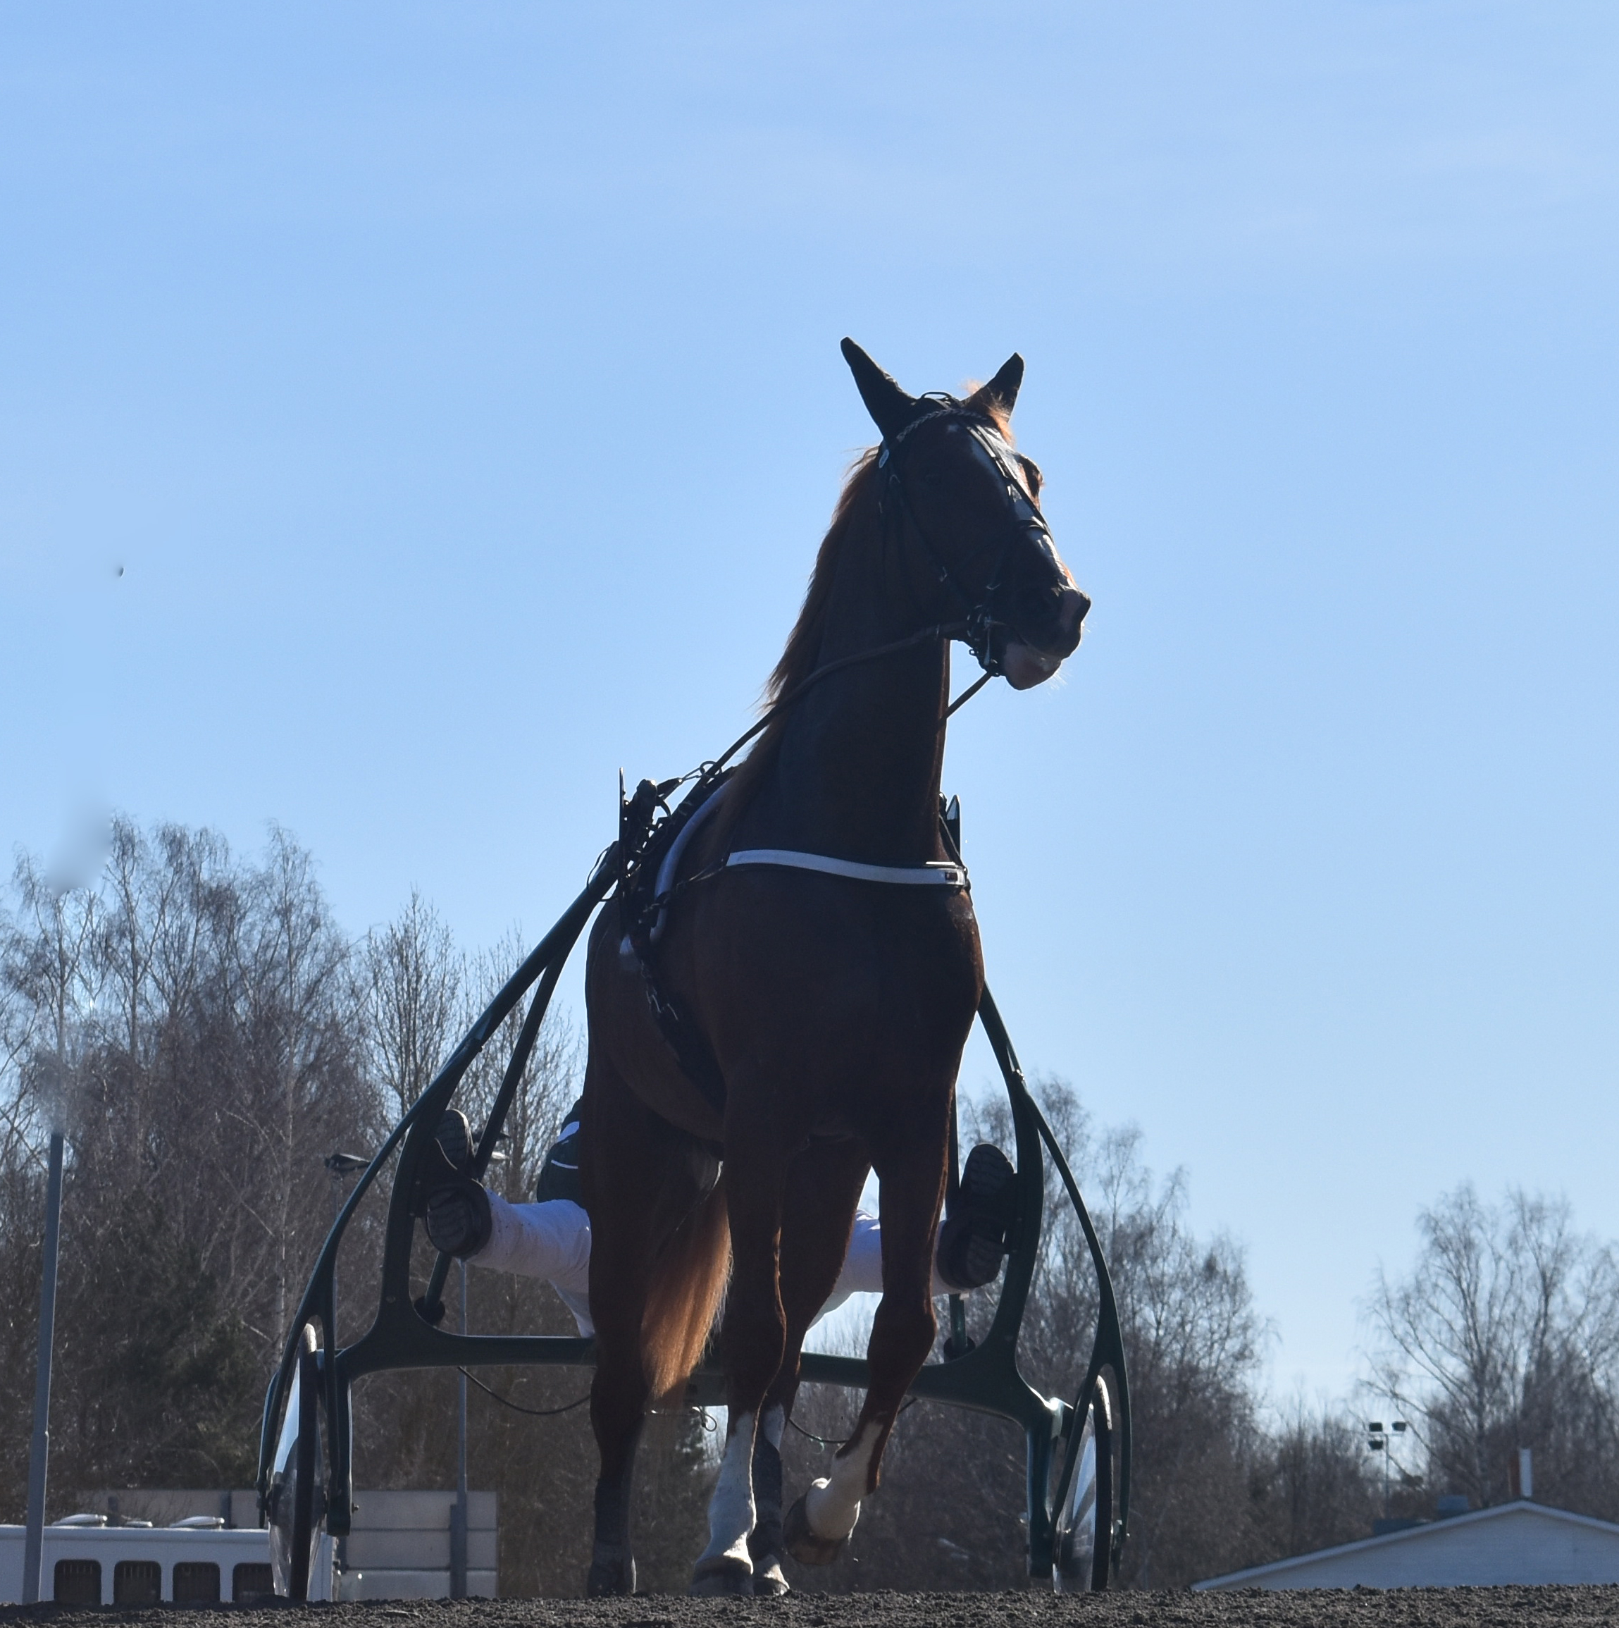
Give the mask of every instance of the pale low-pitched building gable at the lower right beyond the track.
[(1523, 1498), (1206, 1578), (1194, 1589), (1442, 1589), (1619, 1582), (1619, 1525)]

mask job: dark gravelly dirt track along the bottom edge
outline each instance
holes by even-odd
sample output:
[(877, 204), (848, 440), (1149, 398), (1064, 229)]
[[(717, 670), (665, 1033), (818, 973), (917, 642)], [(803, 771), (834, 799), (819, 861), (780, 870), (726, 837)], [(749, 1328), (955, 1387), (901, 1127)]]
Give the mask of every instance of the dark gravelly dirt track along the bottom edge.
[(234, 1628), (286, 1623), (299, 1610), (321, 1628), (1580, 1628), (1619, 1623), (1619, 1587), (1603, 1589), (1336, 1589), (1295, 1594), (794, 1594), (784, 1600), (438, 1600), (366, 1605), (78, 1610), (0, 1607), (0, 1625), (52, 1628)]

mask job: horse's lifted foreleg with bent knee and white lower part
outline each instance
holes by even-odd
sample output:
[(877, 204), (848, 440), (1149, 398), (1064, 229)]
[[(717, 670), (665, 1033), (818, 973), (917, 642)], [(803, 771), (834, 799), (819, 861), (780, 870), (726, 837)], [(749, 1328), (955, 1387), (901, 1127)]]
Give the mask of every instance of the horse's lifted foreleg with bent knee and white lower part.
[(877, 1490), (888, 1433), (905, 1392), (932, 1350), (932, 1249), (944, 1200), (945, 1117), (918, 1143), (879, 1164), (882, 1179), (882, 1301), (867, 1346), (871, 1385), (854, 1434), (838, 1449), (831, 1475), (815, 1481), (788, 1511), (783, 1540), (794, 1560), (836, 1560)]

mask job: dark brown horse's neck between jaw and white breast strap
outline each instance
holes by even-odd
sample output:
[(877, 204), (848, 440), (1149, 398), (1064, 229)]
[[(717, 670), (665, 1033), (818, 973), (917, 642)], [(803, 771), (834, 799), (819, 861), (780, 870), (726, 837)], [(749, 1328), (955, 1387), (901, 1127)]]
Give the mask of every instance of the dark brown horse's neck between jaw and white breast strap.
[[(841, 550), (817, 666), (918, 632), (927, 620), (875, 513)], [(831, 853), (871, 864), (939, 856), (944, 641), (830, 674), (796, 702), (748, 845)]]

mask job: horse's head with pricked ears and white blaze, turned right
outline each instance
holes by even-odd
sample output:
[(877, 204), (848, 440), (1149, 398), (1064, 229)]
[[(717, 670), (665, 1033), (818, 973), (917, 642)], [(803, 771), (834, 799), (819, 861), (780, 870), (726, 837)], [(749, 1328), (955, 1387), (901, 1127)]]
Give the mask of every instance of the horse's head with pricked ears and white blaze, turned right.
[(910, 523), (931, 568), (929, 614), (965, 615), (973, 654), (1012, 689), (1043, 684), (1079, 645), (1090, 601), (1040, 513), (1040, 470), (1012, 449), (1023, 358), (957, 400), (908, 396), (853, 339), (843, 355), (882, 430), (885, 510)]

